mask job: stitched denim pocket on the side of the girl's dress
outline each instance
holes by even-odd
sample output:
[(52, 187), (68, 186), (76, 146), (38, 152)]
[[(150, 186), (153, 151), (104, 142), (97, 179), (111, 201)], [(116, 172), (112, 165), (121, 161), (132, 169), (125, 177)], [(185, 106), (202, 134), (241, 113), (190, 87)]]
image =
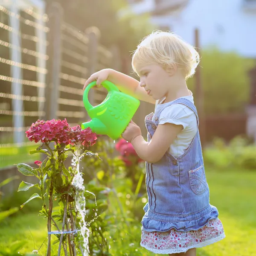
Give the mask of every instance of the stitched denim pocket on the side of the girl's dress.
[(208, 189), (208, 184), (204, 172), (204, 165), (199, 166), (195, 170), (189, 171), (189, 182), (192, 191), (196, 195), (202, 195)]

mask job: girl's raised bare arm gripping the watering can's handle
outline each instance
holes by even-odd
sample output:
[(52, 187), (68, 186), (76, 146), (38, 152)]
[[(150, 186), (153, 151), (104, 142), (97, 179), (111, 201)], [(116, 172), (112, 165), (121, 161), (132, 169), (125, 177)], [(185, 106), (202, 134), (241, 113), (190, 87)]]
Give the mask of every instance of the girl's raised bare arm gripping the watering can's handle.
[(113, 69), (100, 70), (87, 79), (84, 84), (84, 89), (88, 84), (95, 80), (97, 81), (98, 85), (105, 80), (111, 81), (123, 93), (134, 96), (139, 100), (155, 104), (155, 100), (151, 96), (148, 96), (146, 91), (140, 87), (140, 82), (131, 76), (127, 76)]

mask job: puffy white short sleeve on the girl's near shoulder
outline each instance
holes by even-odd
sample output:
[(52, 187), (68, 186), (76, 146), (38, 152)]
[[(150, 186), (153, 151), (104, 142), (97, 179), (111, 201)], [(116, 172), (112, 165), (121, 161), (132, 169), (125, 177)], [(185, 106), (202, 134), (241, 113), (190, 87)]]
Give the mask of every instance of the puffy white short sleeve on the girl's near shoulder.
[(160, 113), (159, 124), (172, 123), (175, 125), (182, 125), (183, 129), (189, 126), (197, 125), (197, 119), (194, 111), (183, 104), (174, 104), (166, 107)]

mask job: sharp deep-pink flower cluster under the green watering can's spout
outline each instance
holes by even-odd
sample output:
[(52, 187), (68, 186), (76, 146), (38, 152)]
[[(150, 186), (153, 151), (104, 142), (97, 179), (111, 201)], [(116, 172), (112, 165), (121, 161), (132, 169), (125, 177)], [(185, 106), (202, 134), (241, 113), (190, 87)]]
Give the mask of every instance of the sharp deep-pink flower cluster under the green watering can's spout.
[(78, 144), (92, 146), (96, 143), (96, 134), (90, 128), (82, 130), (79, 125), (70, 127), (67, 120), (39, 120), (32, 123), (26, 131), (26, 137), (30, 141), (41, 141), (42, 143), (54, 141), (55, 143)]

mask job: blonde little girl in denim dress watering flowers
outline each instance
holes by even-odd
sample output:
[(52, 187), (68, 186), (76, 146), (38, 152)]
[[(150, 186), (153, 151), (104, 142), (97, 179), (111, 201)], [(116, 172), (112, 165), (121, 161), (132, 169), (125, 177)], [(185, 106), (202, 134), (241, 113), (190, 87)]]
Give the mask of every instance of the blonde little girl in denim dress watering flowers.
[(105, 69), (97, 84), (109, 80), (125, 93), (156, 104), (145, 118), (148, 141), (130, 122), (122, 137), (146, 162), (148, 203), (143, 208), (140, 244), (161, 254), (195, 256), (196, 248), (224, 239), (218, 210), (209, 204), (198, 113), (186, 79), (195, 73), (198, 52), (177, 35), (153, 32), (132, 58), (136, 79)]

